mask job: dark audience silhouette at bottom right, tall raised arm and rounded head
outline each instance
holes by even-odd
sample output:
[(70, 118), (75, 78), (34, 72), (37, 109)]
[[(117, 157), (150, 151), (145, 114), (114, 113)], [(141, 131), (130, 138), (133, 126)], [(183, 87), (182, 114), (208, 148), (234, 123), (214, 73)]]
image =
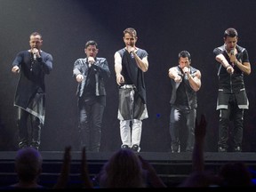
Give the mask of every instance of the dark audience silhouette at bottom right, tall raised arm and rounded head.
[(195, 128), (195, 146), (192, 153), (192, 172), (180, 183), (184, 188), (206, 187), (252, 187), (252, 174), (243, 162), (227, 163), (220, 167), (217, 174), (204, 170), (204, 137), (207, 122), (201, 116), (200, 123)]

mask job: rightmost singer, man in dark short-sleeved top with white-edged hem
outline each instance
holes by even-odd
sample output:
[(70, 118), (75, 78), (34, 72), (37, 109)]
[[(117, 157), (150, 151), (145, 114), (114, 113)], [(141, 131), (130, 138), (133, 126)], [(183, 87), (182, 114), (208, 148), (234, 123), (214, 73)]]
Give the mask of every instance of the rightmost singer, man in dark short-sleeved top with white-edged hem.
[[(224, 32), (224, 44), (213, 50), (219, 70), (219, 92), (217, 110), (220, 111), (218, 151), (242, 151), (244, 109), (249, 101), (244, 87), (244, 75), (250, 75), (251, 64), (248, 52), (237, 45), (238, 34), (235, 28)], [(232, 146), (228, 146), (228, 124), (234, 122)], [(230, 147), (230, 148), (229, 148)]]

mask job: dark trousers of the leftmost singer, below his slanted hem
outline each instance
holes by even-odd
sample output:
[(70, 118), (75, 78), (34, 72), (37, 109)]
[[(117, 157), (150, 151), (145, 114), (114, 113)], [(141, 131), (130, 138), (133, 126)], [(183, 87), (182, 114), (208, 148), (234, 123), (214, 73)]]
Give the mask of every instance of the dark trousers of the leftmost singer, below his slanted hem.
[(19, 148), (40, 146), (41, 128), (39, 118), (18, 108)]

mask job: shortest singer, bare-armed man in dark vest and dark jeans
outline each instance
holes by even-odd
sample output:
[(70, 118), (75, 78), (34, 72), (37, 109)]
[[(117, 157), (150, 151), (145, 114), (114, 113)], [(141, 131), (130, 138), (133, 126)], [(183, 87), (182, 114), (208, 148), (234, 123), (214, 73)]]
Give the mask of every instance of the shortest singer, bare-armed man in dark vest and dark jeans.
[[(179, 65), (169, 69), (172, 83), (170, 134), (172, 153), (192, 152), (194, 148), (194, 131), (196, 123), (196, 92), (201, 87), (201, 72), (190, 66), (188, 51), (179, 53)], [(185, 132), (184, 132), (185, 128)], [(187, 143), (181, 143), (180, 133), (188, 135)]]

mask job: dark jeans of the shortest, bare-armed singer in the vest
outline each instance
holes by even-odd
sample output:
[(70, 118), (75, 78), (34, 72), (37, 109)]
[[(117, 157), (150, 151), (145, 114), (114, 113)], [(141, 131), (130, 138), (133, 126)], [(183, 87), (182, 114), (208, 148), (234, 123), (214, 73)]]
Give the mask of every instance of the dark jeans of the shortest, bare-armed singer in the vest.
[[(183, 124), (186, 126), (188, 131), (186, 132), (186, 134), (188, 135), (187, 143), (186, 143), (186, 151), (193, 150), (194, 142), (195, 142), (195, 123), (196, 123), (196, 108), (194, 109), (178, 109), (174, 107), (171, 108), (170, 134), (171, 134), (173, 152), (179, 152), (178, 150), (180, 148), (180, 132)], [(185, 132), (184, 132), (184, 135), (185, 135)]]

